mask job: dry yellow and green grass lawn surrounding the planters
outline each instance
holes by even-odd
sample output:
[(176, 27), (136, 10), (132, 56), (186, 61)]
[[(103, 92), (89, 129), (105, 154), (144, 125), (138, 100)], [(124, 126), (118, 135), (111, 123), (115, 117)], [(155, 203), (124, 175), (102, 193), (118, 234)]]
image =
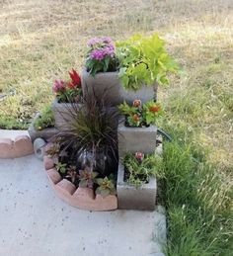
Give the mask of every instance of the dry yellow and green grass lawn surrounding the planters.
[(183, 66), (159, 89), (171, 256), (230, 256), (233, 183), (231, 0), (0, 0), (0, 128), (27, 128), (55, 78), (82, 70), (92, 37), (158, 32)]

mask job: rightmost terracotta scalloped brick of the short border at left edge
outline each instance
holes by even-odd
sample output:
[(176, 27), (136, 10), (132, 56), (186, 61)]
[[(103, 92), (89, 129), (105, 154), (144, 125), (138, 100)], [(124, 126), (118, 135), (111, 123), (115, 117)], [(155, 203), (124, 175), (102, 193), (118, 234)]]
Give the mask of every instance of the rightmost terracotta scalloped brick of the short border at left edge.
[(21, 157), (34, 153), (34, 146), (31, 138), (27, 135), (20, 135), (15, 138), (14, 156)]

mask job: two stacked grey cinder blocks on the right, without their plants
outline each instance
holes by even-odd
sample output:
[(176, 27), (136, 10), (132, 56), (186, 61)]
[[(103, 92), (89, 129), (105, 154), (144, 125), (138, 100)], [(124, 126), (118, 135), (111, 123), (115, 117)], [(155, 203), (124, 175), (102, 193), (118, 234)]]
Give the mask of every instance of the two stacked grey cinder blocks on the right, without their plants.
[(123, 156), (125, 153), (154, 153), (156, 148), (157, 128), (127, 128), (119, 124), (117, 128), (119, 164), (117, 172), (117, 200), (119, 209), (151, 210), (155, 209), (156, 179), (139, 188), (124, 182)]

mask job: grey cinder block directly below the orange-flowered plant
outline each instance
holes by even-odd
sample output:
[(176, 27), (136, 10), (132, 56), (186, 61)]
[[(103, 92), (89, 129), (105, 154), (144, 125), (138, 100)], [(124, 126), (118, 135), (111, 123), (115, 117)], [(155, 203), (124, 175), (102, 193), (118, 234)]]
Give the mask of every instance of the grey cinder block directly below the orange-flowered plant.
[(118, 154), (123, 157), (125, 152), (141, 151), (144, 154), (154, 153), (156, 148), (157, 128), (127, 128), (119, 123), (117, 128)]

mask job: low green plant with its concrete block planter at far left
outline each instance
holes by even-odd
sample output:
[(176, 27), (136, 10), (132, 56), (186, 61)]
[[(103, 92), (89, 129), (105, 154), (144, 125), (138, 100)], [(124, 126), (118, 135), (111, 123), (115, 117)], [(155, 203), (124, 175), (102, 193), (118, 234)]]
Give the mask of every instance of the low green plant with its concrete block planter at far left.
[(51, 136), (58, 132), (57, 128), (54, 128), (55, 119), (51, 106), (45, 106), (40, 113), (36, 114), (30, 128), (28, 129), (32, 141), (41, 137), (43, 139), (49, 139)]

